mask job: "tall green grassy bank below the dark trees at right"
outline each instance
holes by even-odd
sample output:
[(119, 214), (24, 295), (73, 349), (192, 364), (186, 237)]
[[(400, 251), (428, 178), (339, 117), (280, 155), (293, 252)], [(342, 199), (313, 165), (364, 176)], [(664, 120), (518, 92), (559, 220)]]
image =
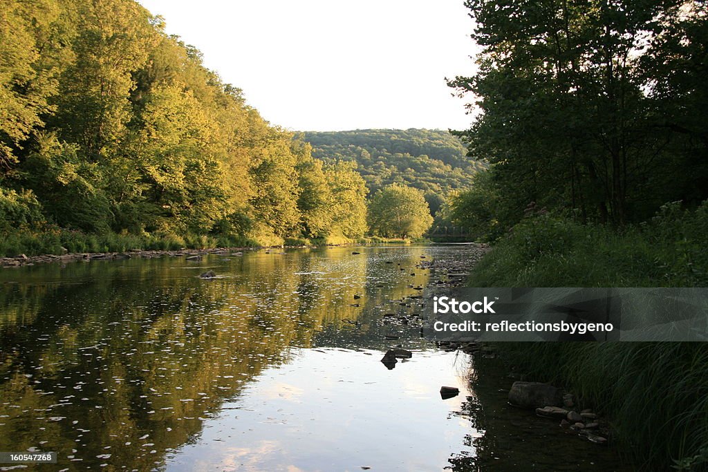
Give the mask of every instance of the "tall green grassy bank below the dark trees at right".
[[(708, 205), (662, 207), (615, 231), (528, 217), (476, 266), (475, 287), (705, 287)], [(646, 470), (708, 469), (708, 345), (500, 343), (515, 367), (573, 391), (612, 420)]]

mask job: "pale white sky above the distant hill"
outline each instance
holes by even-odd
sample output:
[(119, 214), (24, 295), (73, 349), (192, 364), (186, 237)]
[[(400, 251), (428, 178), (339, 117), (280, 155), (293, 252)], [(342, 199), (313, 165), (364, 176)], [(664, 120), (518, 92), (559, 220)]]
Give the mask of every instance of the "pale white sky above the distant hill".
[(467, 129), (445, 77), (474, 73), (462, 0), (139, 0), (273, 125)]

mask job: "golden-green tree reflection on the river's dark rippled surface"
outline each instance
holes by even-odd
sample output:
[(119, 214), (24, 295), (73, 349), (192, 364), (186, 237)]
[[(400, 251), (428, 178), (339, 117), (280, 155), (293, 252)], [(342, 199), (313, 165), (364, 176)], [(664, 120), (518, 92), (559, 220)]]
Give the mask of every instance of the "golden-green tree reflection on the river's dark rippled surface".
[[(397, 262), (412, 267), (418, 255), (406, 254)], [(60, 451), (61, 468), (67, 456), (79, 468), (159, 466), (244, 384), (287, 362), (287, 347), (382, 347), (377, 306), (427, 277), (346, 249), (207, 264), (227, 277), (199, 280), (169, 258), (2, 272), (23, 279), (0, 289), (0, 450)]]

